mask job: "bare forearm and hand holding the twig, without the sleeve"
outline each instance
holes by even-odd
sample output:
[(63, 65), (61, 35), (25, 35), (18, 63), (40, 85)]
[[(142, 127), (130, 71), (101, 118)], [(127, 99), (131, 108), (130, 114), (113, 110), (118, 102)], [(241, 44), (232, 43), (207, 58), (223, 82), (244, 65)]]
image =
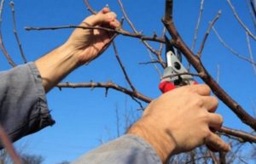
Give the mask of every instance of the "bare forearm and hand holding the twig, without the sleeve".
[[(116, 14), (109, 8), (102, 8), (98, 14), (87, 17), (80, 26), (104, 26), (118, 28)], [(110, 41), (113, 33), (97, 29), (75, 29), (73, 34), (60, 47), (36, 60), (46, 92), (80, 65), (96, 59), (102, 48)]]

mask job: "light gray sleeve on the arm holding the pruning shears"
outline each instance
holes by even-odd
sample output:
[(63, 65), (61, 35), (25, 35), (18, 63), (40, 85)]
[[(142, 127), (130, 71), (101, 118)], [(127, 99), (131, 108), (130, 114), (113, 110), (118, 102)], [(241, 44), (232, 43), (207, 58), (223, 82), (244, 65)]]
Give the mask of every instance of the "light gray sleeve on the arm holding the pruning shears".
[(161, 164), (160, 157), (143, 139), (124, 135), (81, 156), (72, 164)]

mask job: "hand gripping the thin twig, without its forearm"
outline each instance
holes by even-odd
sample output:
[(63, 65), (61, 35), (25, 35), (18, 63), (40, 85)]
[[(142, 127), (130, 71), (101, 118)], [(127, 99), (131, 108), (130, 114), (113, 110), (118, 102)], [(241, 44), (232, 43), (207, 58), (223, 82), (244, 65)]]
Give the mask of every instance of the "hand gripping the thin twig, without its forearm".
[[(102, 26), (114, 29), (118, 28), (119, 25), (119, 21), (116, 20), (116, 14), (111, 12), (109, 8), (102, 8), (99, 13), (87, 17), (80, 26)], [(104, 30), (77, 28), (65, 45), (67, 48), (72, 49), (73, 54), (76, 55), (79, 61), (79, 65), (83, 65), (92, 59), (96, 59), (112, 36), (112, 32)]]

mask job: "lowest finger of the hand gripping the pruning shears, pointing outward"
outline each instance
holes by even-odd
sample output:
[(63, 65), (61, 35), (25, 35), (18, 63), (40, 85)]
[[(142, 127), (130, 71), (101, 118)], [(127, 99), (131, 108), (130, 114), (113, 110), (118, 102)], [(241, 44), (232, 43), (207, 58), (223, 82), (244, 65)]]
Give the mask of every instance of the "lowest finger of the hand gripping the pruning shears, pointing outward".
[(217, 134), (210, 133), (210, 135), (207, 136), (206, 144), (208, 147), (210, 147), (212, 150), (218, 150), (218, 151), (230, 151), (230, 145), (226, 144), (224, 140), (220, 139)]

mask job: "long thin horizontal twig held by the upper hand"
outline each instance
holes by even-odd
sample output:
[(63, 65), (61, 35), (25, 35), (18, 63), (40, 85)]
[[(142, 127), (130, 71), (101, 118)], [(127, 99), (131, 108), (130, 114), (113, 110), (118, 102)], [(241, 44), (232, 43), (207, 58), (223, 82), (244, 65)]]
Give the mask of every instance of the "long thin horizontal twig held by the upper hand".
[(25, 27), (26, 31), (60, 30), (60, 29), (70, 29), (70, 28), (104, 30), (109, 32), (115, 32), (127, 37), (136, 37), (141, 40), (148, 40), (148, 41), (154, 41), (154, 42), (166, 42), (164, 38), (148, 37), (148, 36), (144, 36), (141, 33), (136, 34), (136, 33), (131, 33), (129, 31), (125, 31), (124, 29), (112, 29), (112, 28), (106, 28), (102, 26), (62, 25), (62, 26), (54, 26), (54, 27)]

